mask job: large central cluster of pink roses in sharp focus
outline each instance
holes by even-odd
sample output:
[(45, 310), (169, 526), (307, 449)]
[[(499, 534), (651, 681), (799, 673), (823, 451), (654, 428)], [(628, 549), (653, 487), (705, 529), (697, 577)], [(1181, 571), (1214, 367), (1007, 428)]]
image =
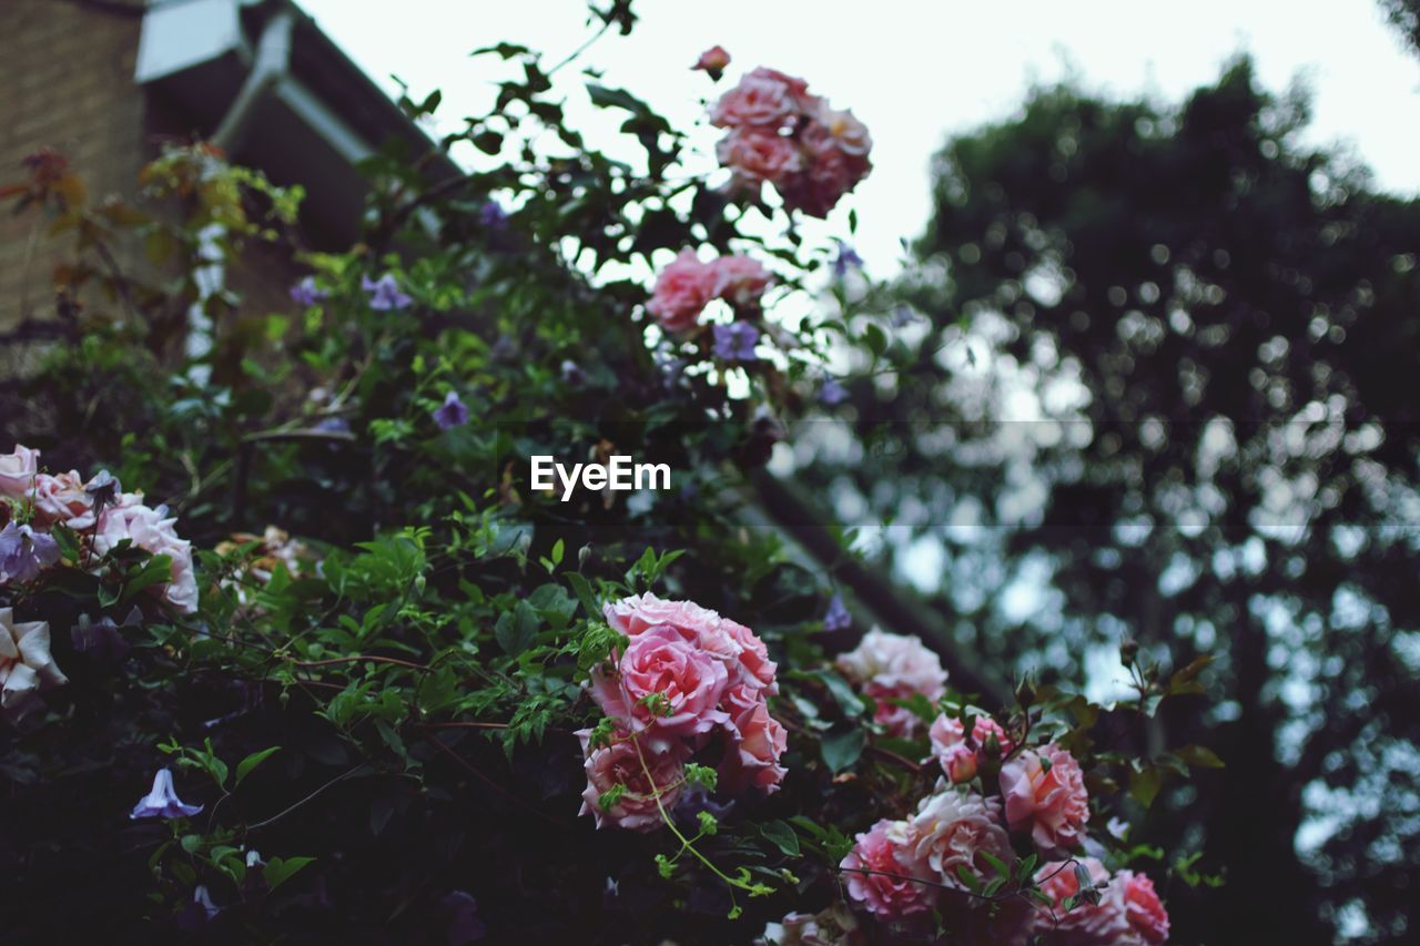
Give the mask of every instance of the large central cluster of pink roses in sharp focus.
[(605, 615), (629, 642), (615, 666), (592, 675), (592, 699), (613, 734), (594, 746), (594, 730), (578, 733), (588, 783), (582, 814), (598, 827), (660, 827), (686, 785), (686, 763), (716, 734), (724, 746), (721, 788), (775, 791), (787, 736), (770, 716), (778, 685), (764, 642), (714, 611), (652, 594), (609, 604)]

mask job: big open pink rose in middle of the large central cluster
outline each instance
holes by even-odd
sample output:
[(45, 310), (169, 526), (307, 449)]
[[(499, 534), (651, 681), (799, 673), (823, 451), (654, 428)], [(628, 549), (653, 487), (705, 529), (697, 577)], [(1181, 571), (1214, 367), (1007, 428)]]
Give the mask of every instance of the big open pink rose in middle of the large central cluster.
[[(724, 662), (659, 625), (632, 638), (618, 668), (592, 672), (592, 699), (633, 732), (653, 730), (643, 744), (663, 750), (670, 736), (709, 733), (730, 717), (719, 709), (728, 682)], [(646, 702), (663, 696), (663, 713)]]

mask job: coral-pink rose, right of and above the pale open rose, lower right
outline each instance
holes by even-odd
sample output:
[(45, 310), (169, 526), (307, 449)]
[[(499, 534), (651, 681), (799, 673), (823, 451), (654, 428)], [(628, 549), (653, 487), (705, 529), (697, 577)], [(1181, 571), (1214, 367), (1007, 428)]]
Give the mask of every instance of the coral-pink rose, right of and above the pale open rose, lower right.
[(1045, 857), (1064, 857), (1085, 838), (1085, 776), (1075, 757), (1055, 744), (1027, 749), (1003, 764), (1001, 797), (1011, 830), (1030, 828)]

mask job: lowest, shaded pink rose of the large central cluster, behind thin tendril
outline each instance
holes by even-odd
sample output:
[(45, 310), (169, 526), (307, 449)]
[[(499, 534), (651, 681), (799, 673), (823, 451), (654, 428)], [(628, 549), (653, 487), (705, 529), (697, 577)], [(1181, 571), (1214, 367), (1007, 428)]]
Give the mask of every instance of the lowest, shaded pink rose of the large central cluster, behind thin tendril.
[[(669, 812), (684, 785), (684, 747), (673, 743), (655, 751), (642, 743), (638, 750), (633, 737), (619, 733), (609, 746), (591, 749), (591, 734), (589, 729), (577, 733), (586, 757), (586, 788), (582, 791), (582, 810), (578, 814), (594, 815), (598, 828), (611, 824), (630, 831), (655, 831), (663, 825), (660, 808), (665, 807)], [(625, 785), (625, 791), (616, 804), (604, 810), (601, 797), (615, 785)]]

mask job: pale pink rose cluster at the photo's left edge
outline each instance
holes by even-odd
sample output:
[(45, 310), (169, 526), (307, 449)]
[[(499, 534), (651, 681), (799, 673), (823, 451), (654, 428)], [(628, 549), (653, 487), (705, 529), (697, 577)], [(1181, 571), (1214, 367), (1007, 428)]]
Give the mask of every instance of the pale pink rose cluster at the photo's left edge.
[[(41, 473), (40, 452), (16, 446), (0, 455), (0, 521), (24, 533), (26, 550), (53, 545), (48, 531), (64, 524), (92, 541), (95, 558), (106, 555), (128, 541), (153, 555), (172, 560), (172, 580), (160, 585), (163, 599), (183, 614), (197, 609), (197, 577), (192, 562), (192, 543), (178, 537), (176, 518), (168, 507), (151, 509), (142, 493), (119, 491), (118, 480), (101, 473), (85, 482), (78, 472)], [(30, 520), (16, 526), (28, 510)], [(43, 564), (54, 564), (48, 557)], [(28, 570), (33, 571), (33, 570)]]

